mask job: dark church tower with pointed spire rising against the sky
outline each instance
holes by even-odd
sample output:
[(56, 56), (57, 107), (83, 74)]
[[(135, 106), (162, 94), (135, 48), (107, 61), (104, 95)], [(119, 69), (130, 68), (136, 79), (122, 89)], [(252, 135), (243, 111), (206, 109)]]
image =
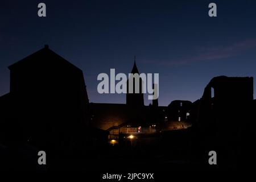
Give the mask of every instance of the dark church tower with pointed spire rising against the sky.
[[(134, 56), (134, 65), (133, 69), (131, 70), (131, 73), (133, 74), (138, 74), (139, 71), (136, 65), (136, 57)], [(129, 80), (133, 79), (133, 93), (129, 93)], [(135, 78), (134, 77), (129, 77), (127, 80), (127, 93), (126, 93), (126, 104), (128, 106), (138, 108), (144, 106), (144, 98), (143, 98), (143, 92), (142, 92), (142, 78), (139, 77), (139, 93), (135, 93)]]

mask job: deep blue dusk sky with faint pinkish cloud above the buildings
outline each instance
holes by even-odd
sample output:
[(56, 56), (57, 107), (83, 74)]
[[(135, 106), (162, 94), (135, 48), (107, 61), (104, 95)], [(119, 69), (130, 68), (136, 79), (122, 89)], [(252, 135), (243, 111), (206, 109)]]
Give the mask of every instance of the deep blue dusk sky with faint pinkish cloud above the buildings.
[[(210, 2), (217, 17), (208, 16)], [(98, 94), (97, 75), (127, 75), (134, 55), (139, 72), (159, 73), (164, 106), (199, 99), (214, 76), (256, 77), (254, 0), (4, 0), (0, 22), (0, 96), (9, 92), (7, 67), (44, 44), (82, 69), (90, 102), (125, 103), (125, 94)]]

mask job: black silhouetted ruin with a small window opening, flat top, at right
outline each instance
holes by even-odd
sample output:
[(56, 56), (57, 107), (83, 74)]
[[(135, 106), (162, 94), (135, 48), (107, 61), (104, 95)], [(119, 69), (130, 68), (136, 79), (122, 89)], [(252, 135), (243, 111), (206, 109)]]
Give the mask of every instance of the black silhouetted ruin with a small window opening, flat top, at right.
[[(218, 165), (238, 167), (252, 151), (253, 77), (214, 77), (204, 90), (195, 125), (200, 150), (214, 150)], [(244, 159), (243, 159), (244, 158)]]

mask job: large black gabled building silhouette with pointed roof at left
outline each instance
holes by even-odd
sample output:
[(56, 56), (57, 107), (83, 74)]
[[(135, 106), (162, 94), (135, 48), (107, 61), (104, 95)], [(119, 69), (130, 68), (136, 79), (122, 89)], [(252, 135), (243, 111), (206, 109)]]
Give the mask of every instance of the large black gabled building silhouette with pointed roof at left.
[(88, 138), (89, 100), (81, 69), (48, 46), (9, 69), (10, 93), (0, 97), (0, 143), (34, 146), (53, 159), (50, 167), (68, 167)]

